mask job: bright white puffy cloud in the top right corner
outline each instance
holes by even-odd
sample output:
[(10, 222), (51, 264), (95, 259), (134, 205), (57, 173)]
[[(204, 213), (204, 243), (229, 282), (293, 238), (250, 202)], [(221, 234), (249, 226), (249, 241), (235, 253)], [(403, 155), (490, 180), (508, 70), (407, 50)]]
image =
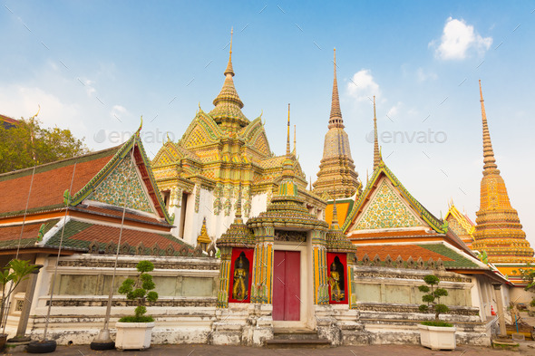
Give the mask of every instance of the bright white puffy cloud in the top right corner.
[[(436, 41), (429, 43), (434, 47)], [(483, 38), (477, 34), (471, 24), (464, 20), (448, 17), (444, 25), (441, 43), (435, 49), (435, 56), (443, 60), (462, 60), (468, 56), (470, 49), (479, 53), (487, 51), (492, 44), (492, 37)]]

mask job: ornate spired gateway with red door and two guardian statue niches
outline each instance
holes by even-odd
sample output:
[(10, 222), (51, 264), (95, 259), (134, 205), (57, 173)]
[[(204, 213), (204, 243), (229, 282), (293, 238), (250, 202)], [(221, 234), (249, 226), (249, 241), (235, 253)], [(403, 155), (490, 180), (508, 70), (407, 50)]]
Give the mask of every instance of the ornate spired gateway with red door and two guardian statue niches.
[(329, 229), (307, 211), (294, 175), (288, 112), (287, 154), (277, 194), (266, 212), (247, 223), (238, 198), (235, 221), (217, 241), (221, 313), (214, 343), (281, 345), (287, 342), (281, 329), (307, 330), (304, 337), (326, 345), (359, 337), (355, 246), (339, 226)]

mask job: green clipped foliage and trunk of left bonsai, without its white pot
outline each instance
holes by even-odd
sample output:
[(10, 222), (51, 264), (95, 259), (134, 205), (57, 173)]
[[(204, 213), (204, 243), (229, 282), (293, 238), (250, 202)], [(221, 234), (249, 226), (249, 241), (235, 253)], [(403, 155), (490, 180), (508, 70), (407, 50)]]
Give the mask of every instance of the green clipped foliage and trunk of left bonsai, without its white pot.
[(134, 310), (135, 315), (124, 316), (119, 322), (154, 322), (154, 318), (151, 316), (143, 315), (147, 313), (145, 304), (158, 300), (158, 293), (152, 291), (156, 285), (152, 281), (152, 275), (148, 274), (148, 272), (154, 270), (154, 265), (151, 261), (140, 261), (136, 265), (136, 269), (140, 274), (136, 279), (125, 279), (119, 288), (119, 293), (126, 294), (126, 299), (128, 300), (137, 301), (138, 306)]

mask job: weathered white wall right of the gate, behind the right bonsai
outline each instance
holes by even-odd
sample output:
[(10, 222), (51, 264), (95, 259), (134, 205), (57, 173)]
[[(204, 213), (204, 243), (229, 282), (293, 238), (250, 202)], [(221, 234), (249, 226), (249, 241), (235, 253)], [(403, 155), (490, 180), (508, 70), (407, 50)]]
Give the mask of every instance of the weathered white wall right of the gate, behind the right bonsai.
[[(424, 284), (423, 276), (430, 273), (441, 279), (440, 287), (449, 293), (441, 302), (450, 307), (450, 313), (442, 314), (441, 320), (455, 324), (458, 343), (490, 345), (490, 325), (482, 321), (480, 298), (472, 293), (478, 288), (475, 278), (443, 270), (374, 265), (355, 266), (357, 309), (364, 325), (359, 342), (419, 344), (418, 323), (434, 320), (434, 314), (418, 310), (423, 303), (418, 286)], [(489, 283), (482, 281), (482, 284), (486, 287)]]

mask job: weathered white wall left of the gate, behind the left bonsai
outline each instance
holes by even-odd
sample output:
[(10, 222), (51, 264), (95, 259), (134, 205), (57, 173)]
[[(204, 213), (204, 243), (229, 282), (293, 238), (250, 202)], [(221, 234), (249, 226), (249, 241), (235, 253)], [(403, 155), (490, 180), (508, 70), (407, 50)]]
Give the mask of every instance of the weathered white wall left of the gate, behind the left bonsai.
[[(27, 330), (34, 340), (43, 336), (55, 260), (55, 256), (50, 256), (37, 261), (44, 267), (38, 274)], [(135, 265), (141, 260), (150, 260), (156, 266), (151, 274), (160, 294), (159, 300), (147, 307), (147, 315), (153, 316), (156, 322), (152, 342), (209, 342), (216, 314), (219, 260), (209, 257), (121, 255), (115, 291), (126, 276), (137, 274)], [(59, 344), (92, 342), (104, 323), (114, 261), (113, 255), (61, 257), (49, 319), (49, 338)], [(110, 319), (112, 338), (114, 323), (122, 316), (133, 314), (134, 309), (123, 295), (114, 294)], [(11, 319), (6, 332), (13, 336), (18, 316)]]

